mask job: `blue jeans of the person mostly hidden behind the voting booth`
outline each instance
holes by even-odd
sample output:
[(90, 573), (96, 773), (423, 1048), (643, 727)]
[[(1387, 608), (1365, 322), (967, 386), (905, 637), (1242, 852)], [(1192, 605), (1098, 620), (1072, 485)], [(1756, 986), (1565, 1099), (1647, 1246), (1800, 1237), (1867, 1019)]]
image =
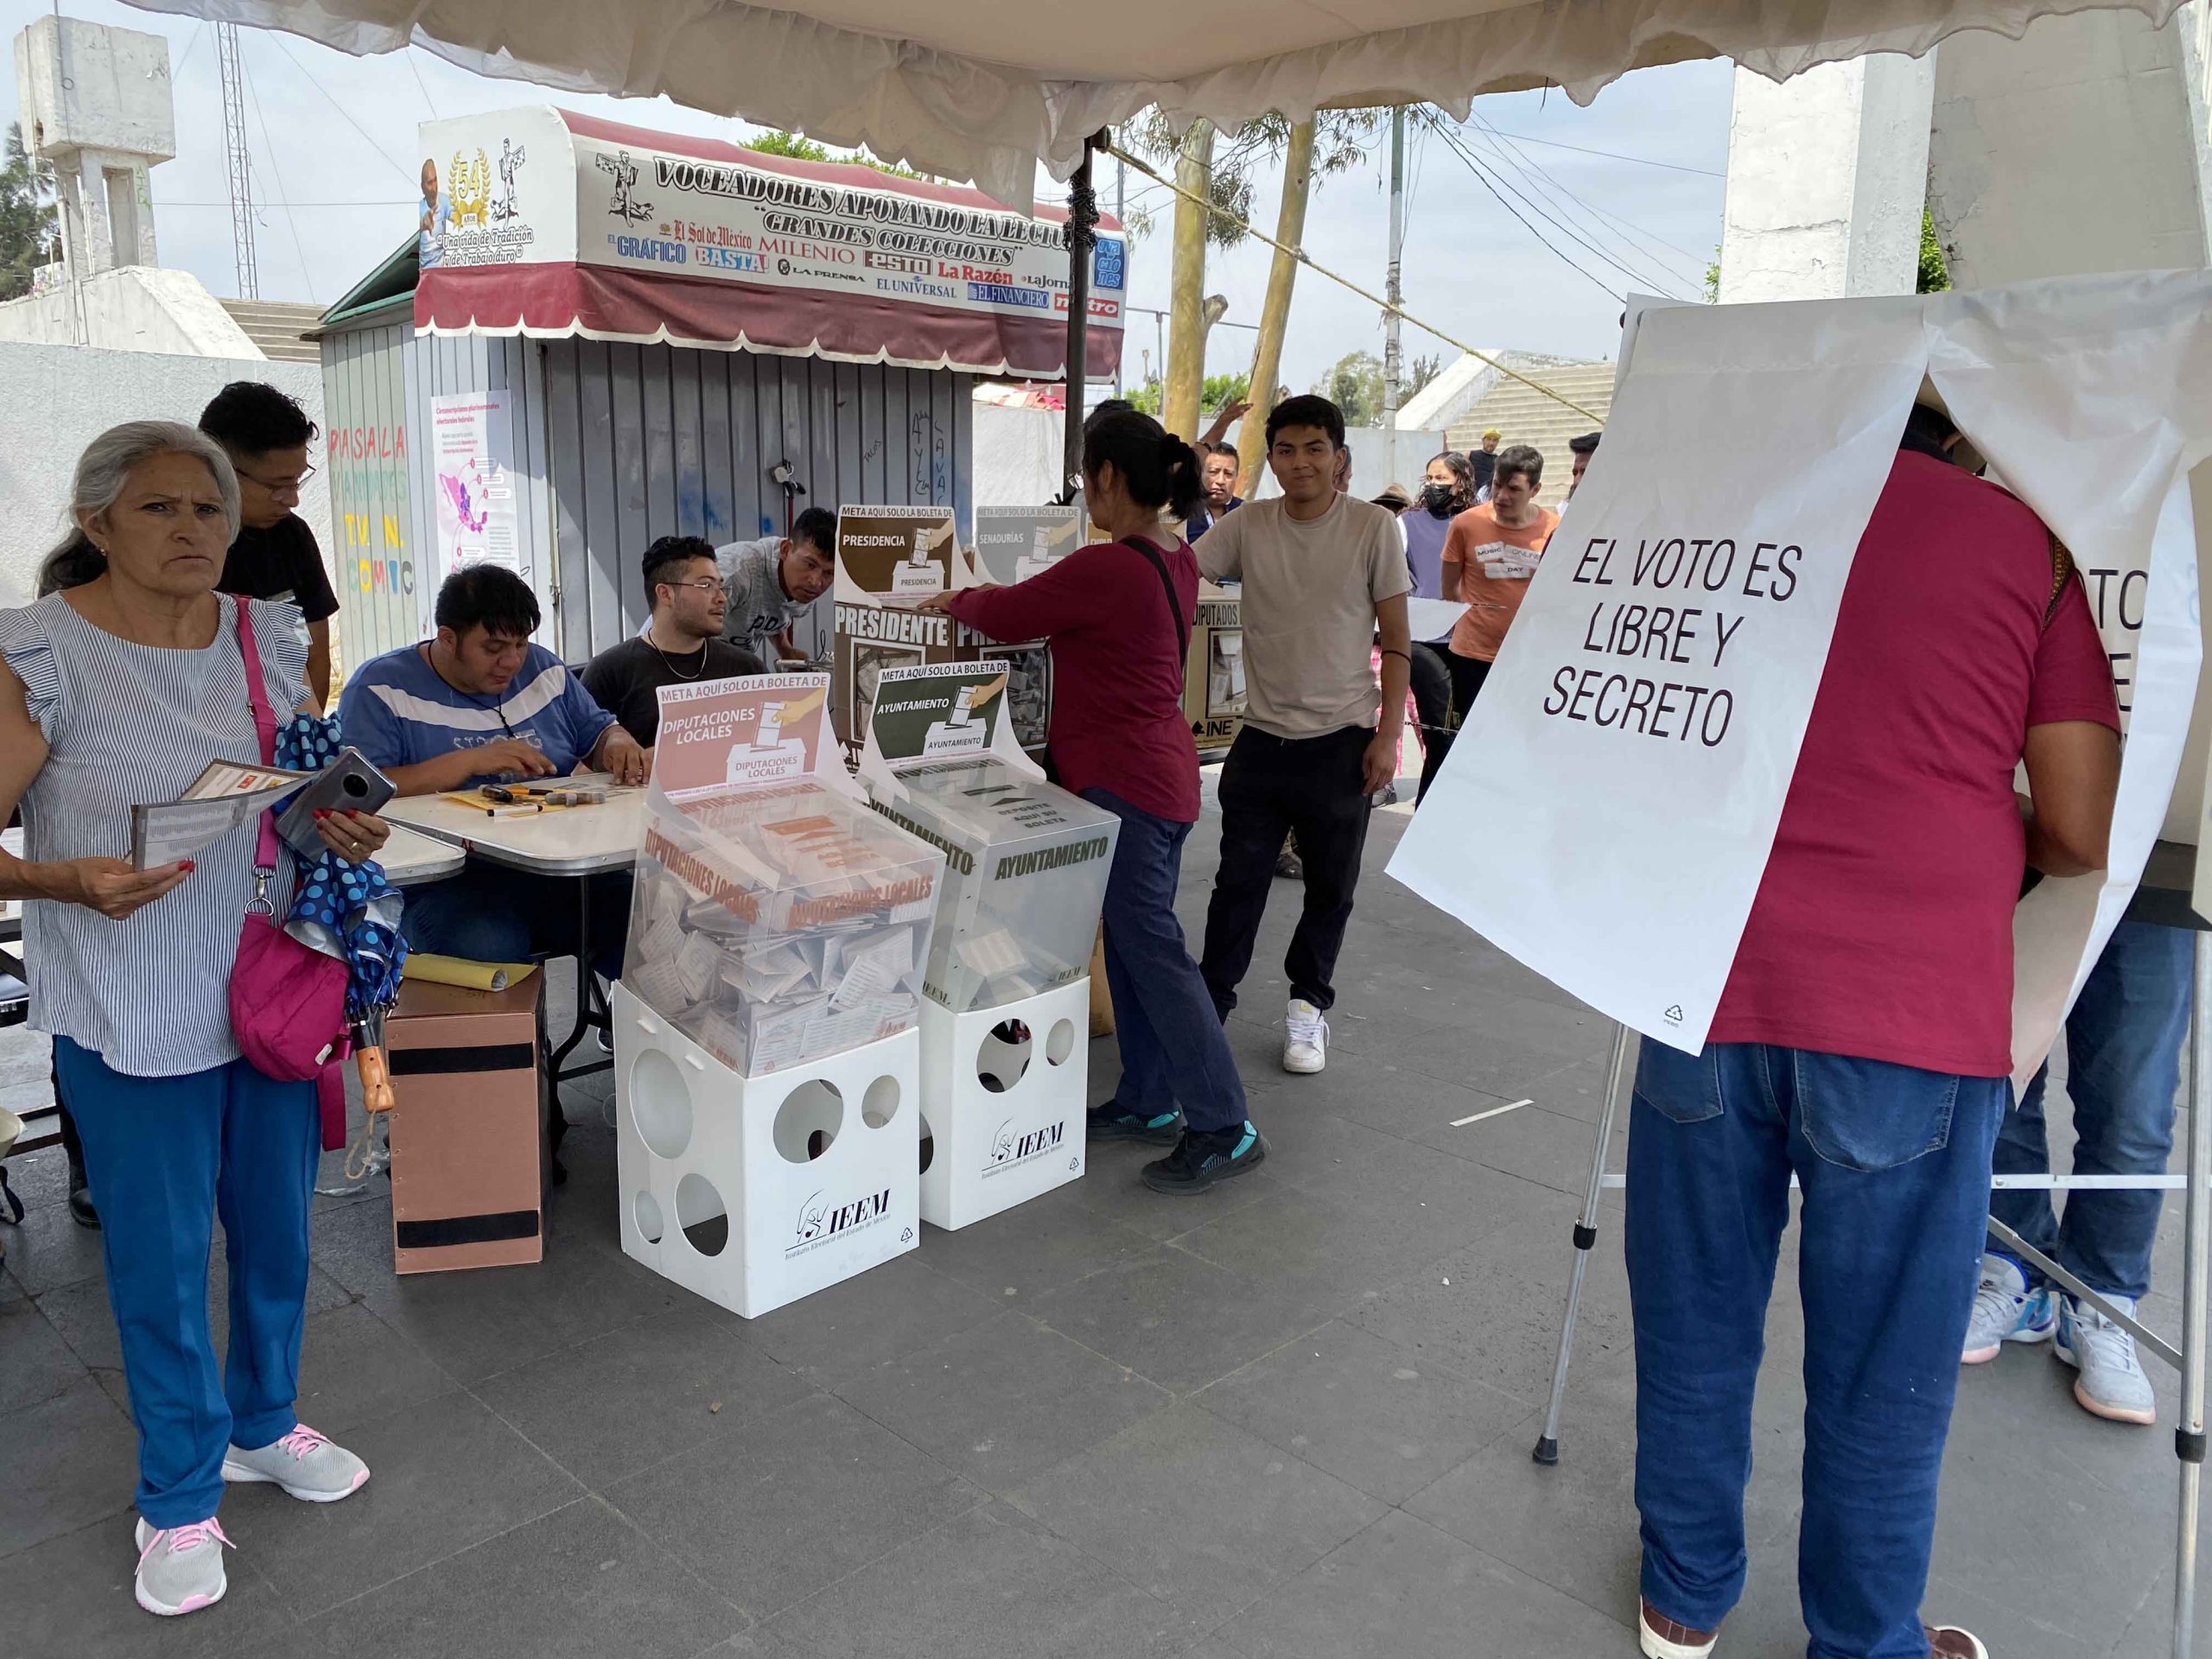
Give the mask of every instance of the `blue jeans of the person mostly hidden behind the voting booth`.
[[(2066, 1015), (2066, 1095), (2075, 1108), (2075, 1175), (2163, 1175), (2174, 1150), (2174, 1091), (2190, 1029), (2190, 936), (2121, 922)], [(2044, 1077), (1997, 1130), (1997, 1175), (2048, 1175)], [(1989, 1212), (2090, 1290), (2141, 1296), (2159, 1237), (2159, 1192), (1997, 1192)], [(1995, 1239), (1991, 1250), (2004, 1250)], [(2028, 1272), (2028, 1283), (2042, 1274)]]

